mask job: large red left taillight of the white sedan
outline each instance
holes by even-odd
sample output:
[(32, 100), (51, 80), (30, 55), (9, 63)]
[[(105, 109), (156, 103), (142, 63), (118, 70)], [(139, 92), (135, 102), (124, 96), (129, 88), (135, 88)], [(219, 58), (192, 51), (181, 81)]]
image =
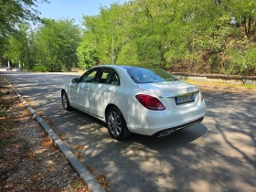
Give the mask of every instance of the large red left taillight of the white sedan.
[(149, 96), (149, 95), (139, 94), (139, 95), (136, 95), (136, 99), (146, 109), (154, 110), (154, 111), (163, 111), (163, 110), (166, 109), (165, 105), (155, 97), (152, 97), (152, 96)]

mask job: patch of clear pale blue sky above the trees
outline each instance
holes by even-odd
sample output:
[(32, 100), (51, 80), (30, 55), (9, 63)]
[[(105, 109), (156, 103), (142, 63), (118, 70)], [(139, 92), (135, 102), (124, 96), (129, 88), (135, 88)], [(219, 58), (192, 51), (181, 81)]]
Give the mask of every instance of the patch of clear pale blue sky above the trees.
[(49, 4), (37, 4), (41, 17), (54, 19), (75, 18), (81, 25), (82, 16), (95, 16), (100, 13), (100, 7), (109, 7), (112, 3), (123, 4), (125, 0), (48, 0)]

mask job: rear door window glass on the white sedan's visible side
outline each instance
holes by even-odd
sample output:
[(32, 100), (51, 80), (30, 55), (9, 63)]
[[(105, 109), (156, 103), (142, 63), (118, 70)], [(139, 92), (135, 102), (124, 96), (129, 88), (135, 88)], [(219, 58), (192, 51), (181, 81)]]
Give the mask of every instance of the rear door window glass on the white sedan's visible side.
[(106, 68), (102, 72), (101, 83), (120, 85), (120, 80), (114, 69)]

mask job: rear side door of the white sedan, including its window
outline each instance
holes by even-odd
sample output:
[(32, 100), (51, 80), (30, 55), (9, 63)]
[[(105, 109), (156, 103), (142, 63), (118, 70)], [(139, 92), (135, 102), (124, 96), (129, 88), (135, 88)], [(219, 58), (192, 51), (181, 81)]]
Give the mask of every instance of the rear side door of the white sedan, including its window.
[(96, 83), (91, 83), (91, 113), (104, 118), (105, 108), (109, 104), (112, 94), (118, 89), (120, 79), (112, 68), (102, 68)]

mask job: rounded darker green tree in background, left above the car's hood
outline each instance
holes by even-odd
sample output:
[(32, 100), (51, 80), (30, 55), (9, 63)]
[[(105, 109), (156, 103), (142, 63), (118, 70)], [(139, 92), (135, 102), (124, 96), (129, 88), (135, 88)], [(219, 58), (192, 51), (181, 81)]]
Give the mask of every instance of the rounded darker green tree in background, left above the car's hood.
[(77, 66), (76, 50), (80, 44), (80, 28), (74, 19), (43, 19), (35, 34), (37, 65), (48, 71), (70, 70)]

